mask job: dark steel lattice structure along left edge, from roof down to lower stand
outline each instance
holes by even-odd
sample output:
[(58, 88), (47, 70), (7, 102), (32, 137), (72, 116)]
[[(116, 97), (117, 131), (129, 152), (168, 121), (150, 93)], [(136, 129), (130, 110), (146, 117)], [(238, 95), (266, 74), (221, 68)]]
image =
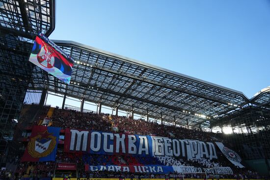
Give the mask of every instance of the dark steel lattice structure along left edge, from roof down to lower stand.
[(33, 39), (38, 32), (53, 32), (54, 17), (54, 0), (0, 0), (1, 166), (18, 150), (15, 129), (26, 126), (19, 118), (33, 69), (27, 61)]

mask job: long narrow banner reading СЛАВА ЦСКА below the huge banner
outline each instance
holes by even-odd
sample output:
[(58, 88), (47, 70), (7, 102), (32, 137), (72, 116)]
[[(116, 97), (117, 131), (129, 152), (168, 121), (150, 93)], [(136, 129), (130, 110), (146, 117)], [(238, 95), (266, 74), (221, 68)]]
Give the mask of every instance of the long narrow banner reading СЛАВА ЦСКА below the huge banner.
[(230, 167), (214, 167), (201, 168), (193, 166), (162, 166), (162, 165), (144, 165), (144, 166), (117, 166), (117, 165), (98, 165), (91, 166), (85, 164), (85, 171), (112, 171), (123, 173), (151, 173), (151, 174), (167, 174), (167, 173), (207, 173), (207, 174), (233, 174)]

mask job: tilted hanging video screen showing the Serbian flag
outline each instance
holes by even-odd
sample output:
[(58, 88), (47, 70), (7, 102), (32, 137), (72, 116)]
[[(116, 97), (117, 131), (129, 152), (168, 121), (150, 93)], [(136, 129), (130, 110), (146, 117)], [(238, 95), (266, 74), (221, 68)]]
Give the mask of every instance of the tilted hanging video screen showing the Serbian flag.
[[(56, 50), (57, 49), (57, 50)], [(45, 35), (38, 34), (33, 45), (29, 61), (54, 77), (69, 84), (73, 58), (49, 40)]]

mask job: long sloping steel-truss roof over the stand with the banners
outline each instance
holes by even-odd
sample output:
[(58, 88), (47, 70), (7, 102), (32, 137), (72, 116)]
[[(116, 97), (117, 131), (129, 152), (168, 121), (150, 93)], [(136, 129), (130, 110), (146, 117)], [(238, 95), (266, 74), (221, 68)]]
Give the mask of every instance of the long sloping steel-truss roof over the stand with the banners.
[(76, 60), (71, 84), (34, 69), (31, 88), (132, 111), (179, 125), (209, 127), (210, 120), (249, 103), (239, 91), (73, 41), (54, 40)]

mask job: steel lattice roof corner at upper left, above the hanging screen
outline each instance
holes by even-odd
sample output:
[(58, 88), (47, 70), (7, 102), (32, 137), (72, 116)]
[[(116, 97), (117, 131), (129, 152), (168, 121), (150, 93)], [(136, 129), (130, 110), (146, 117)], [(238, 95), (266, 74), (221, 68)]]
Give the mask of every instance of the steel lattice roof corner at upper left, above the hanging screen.
[(33, 39), (37, 32), (49, 36), (55, 26), (54, 0), (1, 0), (0, 30)]

